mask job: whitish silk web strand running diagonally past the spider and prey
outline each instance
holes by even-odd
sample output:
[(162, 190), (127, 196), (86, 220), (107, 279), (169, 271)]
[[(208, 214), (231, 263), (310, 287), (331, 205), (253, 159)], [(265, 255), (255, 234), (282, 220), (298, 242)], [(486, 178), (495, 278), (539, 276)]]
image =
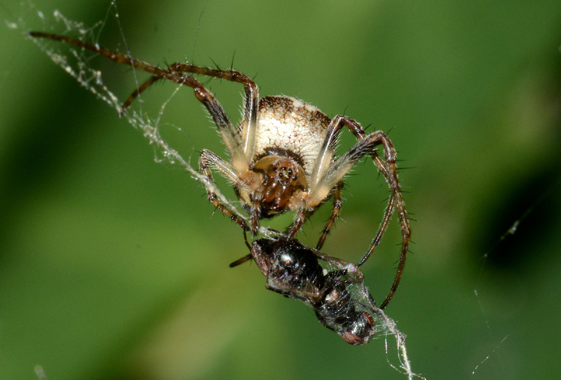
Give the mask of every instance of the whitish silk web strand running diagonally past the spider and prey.
[[(39, 20), (43, 27), (43, 32), (73, 36), (81, 41), (92, 43), (95, 46), (99, 46), (100, 36), (102, 35), (108, 20), (114, 20), (119, 28), (121, 43), (125, 50), (124, 53), (129, 55), (126, 38), (119, 22), (119, 11), (115, 0), (110, 2), (104, 20), (100, 20), (89, 27), (84, 25), (83, 22), (66, 18), (65, 15), (62, 15), (62, 13), (58, 10), (53, 11), (52, 15), (46, 15), (37, 9), (31, 2), (24, 4), (24, 8), (24, 15), (20, 16), (18, 20), (15, 22), (6, 21), (6, 26), (8, 28), (18, 29), (27, 33), (29, 32), (29, 28), (27, 27), (26, 21), (33, 20), (36, 22)], [(80, 84), (80, 86), (90, 91), (90, 93), (93, 93), (97, 99), (108, 104), (109, 107), (113, 108), (117, 114), (121, 112), (123, 102), (121, 102), (119, 97), (116, 96), (115, 93), (104, 83), (104, 73), (102, 70), (96, 69), (91, 63), (93, 58), (97, 57), (95, 53), (83, 48), (77, 48), (75, 46), (70, 46), (69, 44), (62, 44), (48, 39), (30, 38), (30, 40), (33, 41), (33, 43), (35, 43), (36, 46), (43, 51), (43, 53), (50, 57), (50, 60), (52, 60), (55, 65), (58, 65), (67, 72), (67, 74), (72, 76)], [(131, 67), (130, 71), (132, 72), (136, 85), (140, 86), (142, 81), (138, 79), (138, 70)], [(201, 175), (200, 172), (193, 168), (189, 163), (189, 160), (183, 158), (182, 155), (176, 149), (171, 147), (161, 135), (161, 126), (164, 125), (162, 120), (165, 114), (165, 109), (170, 100), (175, 97), (181, 87), (182, 86), (179, 85), (175, 86), (171, 95), (169, 95), (169, 97), (159, 107), (159, 111), (156, 116), (150, 116), (142, 108), (142, 94), (135, 99), (134, 107), (128, 107), (121, 116), (125, 118), (126, 121), (133, 126), (133, 128), (140, 130), (142, 135), (149, 141), (149, 144), (154, 147), (154, 161), (158, 163), (168, 162), (172, 165), (179, 165), (184, 170), (187, 170), (193, 179), (200, 181), (204, 184), (206, 189), (213, 191), (217, 198), (219, 198), (219, 201), (227, 205), (230, 210), (234, 211), (236, 215), (238, 215), (238, 217), (241, 217), (241, 219), (248, 222), (247, 215), (240, 212), (232, 201), (224, 196), (222, 192), (219, 191), (214, 184), (209, 182), (204, 175)], [(165, 125), (169, 124), (165, 123)], [(174, 125), (171, 126), (177, 128)], [(180, 128), (177, 129), (180, 130)], [(269, 237), (276, 236), (277, 234), (264, 226), (259, 226), (259, 233), (261, 233), (262, 236)], [(379, 333), (377, 337), (385, 337), (386, 358), (388, 364), (398, 372), (405, 374), (407, 379), (414, 379), (415, 377), (425, 379), (424, 376), (412, 372), (411, 362), (407, 355), (407, 348), (405, 346), (406, 336), (403, 332), (398, 330), (396, 322), (389, 318), (380, 308), (372, 304), (370, 301), (367, 301), (369, 294), (367, 287), (363, 284), (357, 287), (354, 292), (356, 293), (355, 297), (363, 300), (365, 308), (371, 311), (373, 316), (375, 315)], [(392, 364), (389, 358), (390, 351), (393, 351), (393, 349), (390, 348), (391, 345), (388, 344), (388, 337), (391, 335), (393, 335), (396, 339), (395, 348), (397, 349), (398, 365)], [(39, 379), (43, 379), (45, 377), (41, 367), (36, 368), (36, 374)]]

